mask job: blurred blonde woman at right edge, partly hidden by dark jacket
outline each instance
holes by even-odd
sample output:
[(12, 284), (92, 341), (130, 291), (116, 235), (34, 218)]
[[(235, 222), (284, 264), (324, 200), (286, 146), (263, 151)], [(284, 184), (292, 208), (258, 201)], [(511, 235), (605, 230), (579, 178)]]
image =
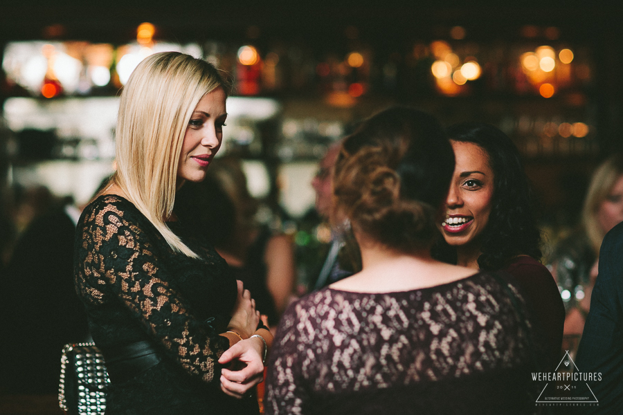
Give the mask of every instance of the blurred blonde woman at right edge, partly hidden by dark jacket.
[(552, 273), (565, 304), (564, 350), (577, 349), (597, 277), (599, 246), (606, 233), (623, 221), (623, 156), (606, 159), (593, 173), (581, 223), (552, 254)]

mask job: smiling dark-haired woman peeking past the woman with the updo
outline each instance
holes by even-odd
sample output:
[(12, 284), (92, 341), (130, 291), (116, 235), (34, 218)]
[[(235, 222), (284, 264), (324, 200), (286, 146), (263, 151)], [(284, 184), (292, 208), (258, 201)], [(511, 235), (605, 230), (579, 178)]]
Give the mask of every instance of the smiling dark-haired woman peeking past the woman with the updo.
[(560, 360), (564, 307), (541, 264), (541, 233), (519, 152), (489, 124), (455, 124), (448, 135), (456, 158), (437, 255), (473, 269), (503, 270), (517, 282), (536, 324), (545, 367)]

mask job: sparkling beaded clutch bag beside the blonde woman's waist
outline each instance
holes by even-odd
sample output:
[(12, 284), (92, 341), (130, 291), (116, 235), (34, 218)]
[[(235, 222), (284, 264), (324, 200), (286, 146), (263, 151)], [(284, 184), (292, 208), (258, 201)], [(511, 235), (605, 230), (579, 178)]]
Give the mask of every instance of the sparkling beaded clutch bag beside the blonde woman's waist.
[(69, 415), (104, 414), (110, 380), (95, 343), (63, 347), (58, 403)]

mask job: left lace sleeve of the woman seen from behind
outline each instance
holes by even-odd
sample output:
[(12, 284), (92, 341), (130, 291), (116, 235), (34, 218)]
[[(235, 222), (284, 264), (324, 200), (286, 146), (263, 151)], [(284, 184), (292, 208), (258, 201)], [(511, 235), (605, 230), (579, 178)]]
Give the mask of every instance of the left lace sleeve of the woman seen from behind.
[[(299, 302), (291, 304), (273, 340), (273, 349), (266, 378), (264, 414), (303, 414), (308, 402), (305, 382), (302, 381), (303, 360), (307, 344), (300, 339), (296, 322)], [(309, 329), (309, 328), (308, 328)], [(310, 355), (312, 356), (312, 355)], [(309, 365), (309, 362), (307, 362)]]

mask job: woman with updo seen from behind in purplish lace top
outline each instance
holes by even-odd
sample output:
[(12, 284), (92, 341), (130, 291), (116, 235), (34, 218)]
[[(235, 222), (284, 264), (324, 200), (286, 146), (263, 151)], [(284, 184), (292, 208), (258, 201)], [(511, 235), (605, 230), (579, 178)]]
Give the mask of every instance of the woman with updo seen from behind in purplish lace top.
[(334, 221), (350, 221), (363, 267), (282, 316), (266, 414), (534, 409), (521, 294), (431, 257), (453, 169), (440, 124), (415, 109), (382, 111), (345, 138)]

